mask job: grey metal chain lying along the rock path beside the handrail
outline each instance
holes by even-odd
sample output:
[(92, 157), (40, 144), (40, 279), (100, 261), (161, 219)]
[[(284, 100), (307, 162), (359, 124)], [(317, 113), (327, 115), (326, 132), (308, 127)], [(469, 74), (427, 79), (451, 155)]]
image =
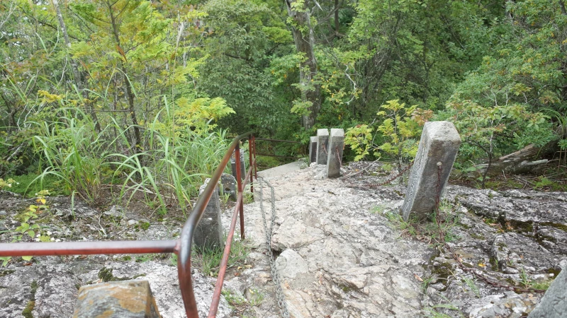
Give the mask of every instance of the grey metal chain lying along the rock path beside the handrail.
[[(279, 278), (279, 273), (276, 269), (274, 253), (271, 252), (271, 233), (274, 230), (274, 223), (276, 222), (276, 197), (274, 196), (274, 187), (265, 181), (263, 178), (258, 178), (260, 182), (259, 196), (260, 196), (260, 211), (262, 211), (262, 222), (264, 223), (264, 233), (266, 234), (266, 245), (268, 246), (268, 257), (270, 260), (271, 277), (274, 285), (276, 285), (276, 298), (278, 300), (279, 311), (283, 318), (289, 318), (289, 312), (286, 305), (286, 298), (283, 295), (283, 290), (281, 289), (281, 281)], [(262, 182), (266, 182), (266, 185), (271, 191), (271, 222), (268, 229), (266, 224), (266, 213), (264, 211), (264, 191)]]

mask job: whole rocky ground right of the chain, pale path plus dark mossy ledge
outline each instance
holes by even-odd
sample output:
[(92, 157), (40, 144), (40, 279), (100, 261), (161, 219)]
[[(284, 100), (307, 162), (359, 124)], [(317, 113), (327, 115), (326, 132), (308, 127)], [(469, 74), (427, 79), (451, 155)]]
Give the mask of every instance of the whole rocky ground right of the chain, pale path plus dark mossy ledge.
[[(567, 265), (565, 193), (449, 187), (443, 208), (454, 223), (447, 242), (433, 245), (387, 217), (403, 203), (404, 185), (370, 188), (388, 176), (323, 179), (323, 170), (265, 177), (275, 190), (272, 249), (291, 317), (526, 317), (542, 294), (520, 289), (545, 288)], [(254, 317), (281, 317), (258, 192), (245, 206), (255, 266), (228, 285), (266, 295)]]

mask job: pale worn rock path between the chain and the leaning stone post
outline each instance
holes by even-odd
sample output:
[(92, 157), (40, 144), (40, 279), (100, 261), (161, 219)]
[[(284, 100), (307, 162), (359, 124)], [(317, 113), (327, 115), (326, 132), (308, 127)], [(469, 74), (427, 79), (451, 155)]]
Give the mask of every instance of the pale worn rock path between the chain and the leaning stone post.
[[(415, 275), (425, 273), (432, 249), (423, 242), (401, 239), (386, 218), (372, 212), (383, 204), (399, 206), (399, 195), (392, 192), (388, 197), (344, 187), (340, 179), (320, 179), (322, 169), (315, 166), (265, 178), (274, 186), (272, 249), (279, 255), (276, 266), (291, 317), (419, 316), (423, 290)], [(271, 200), (265, 185), (263, 193), (269, 220)], [(280, 317), (265, 260), (257, 187), (255, 199), (245, 206), (245, 223), (257, 248), (251, 257), (261, 265), (235, 280), (270, 295), (257, 309), (257, 317)]]

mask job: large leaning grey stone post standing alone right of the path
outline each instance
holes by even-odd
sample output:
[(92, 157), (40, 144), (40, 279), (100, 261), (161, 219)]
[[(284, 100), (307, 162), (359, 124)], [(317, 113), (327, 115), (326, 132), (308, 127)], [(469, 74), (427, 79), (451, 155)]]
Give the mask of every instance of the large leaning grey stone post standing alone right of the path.
[[(410, 173), (408, 189), (402, 206), (402, 216), (410, 213), (424, 218), (440, 201), (449, 173), (461, 145), (461, 136), (451, 122), (426, 122), (420, 146)], [(439, 196), (439, 198), (438, 198)]]

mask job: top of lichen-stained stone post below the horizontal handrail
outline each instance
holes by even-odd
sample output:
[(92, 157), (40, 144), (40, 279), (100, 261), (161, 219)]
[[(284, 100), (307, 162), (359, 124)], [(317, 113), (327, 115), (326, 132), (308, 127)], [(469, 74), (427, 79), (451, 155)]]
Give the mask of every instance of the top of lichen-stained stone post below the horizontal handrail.
[(147, 281), (113, 281), (82, 286), (73, 318), (159, 318)]

